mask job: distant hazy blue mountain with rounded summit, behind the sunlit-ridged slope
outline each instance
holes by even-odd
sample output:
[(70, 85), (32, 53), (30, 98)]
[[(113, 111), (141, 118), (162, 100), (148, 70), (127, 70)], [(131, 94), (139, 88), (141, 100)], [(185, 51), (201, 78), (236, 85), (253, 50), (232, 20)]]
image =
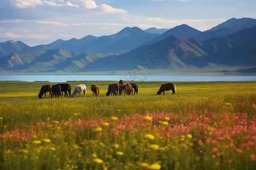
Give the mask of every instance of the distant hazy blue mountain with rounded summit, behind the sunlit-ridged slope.
[(48, 44), (50, 49), (66, 49), (72, 52), (88, 53), (125, 53), (154, 39), (157, 34), (151, 34), (138, 27), (126, 27), (110, 36), (86, 36), (80, 40), (57, 40)]

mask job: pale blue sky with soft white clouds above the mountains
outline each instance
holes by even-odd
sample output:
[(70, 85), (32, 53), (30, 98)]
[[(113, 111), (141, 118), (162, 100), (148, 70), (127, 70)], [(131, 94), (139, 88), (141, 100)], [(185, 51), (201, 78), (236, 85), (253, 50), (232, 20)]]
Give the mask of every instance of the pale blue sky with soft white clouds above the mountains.
[(181, 24), (206, 31), (231, 18), (255, 19), (255, 8), (255, 0), (1, 0), (0, 42), (36, 46)]

